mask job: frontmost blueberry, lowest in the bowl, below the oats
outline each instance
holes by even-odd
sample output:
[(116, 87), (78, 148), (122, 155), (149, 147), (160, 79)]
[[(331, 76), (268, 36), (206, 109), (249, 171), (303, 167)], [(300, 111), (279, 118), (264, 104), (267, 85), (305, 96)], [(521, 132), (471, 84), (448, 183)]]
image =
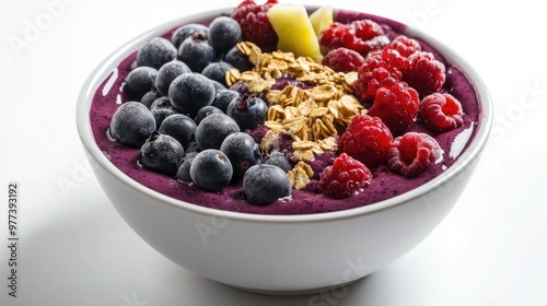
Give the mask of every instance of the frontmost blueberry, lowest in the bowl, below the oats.
[(260, 164), (252, 166), (243, 176), (243, 193), (247, 201), (266, 205), (291, 195), (291, 183), (278, 166)]

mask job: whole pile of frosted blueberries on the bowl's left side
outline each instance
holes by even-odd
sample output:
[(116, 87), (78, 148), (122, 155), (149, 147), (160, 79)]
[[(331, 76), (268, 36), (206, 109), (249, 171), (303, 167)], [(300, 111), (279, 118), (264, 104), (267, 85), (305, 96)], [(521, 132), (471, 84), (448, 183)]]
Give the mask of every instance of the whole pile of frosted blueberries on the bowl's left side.
[(213, 192), (240, 179), (245, 199), (267, 204), (291, 195), (277, 166), (290, 162), (270, 162), (248, 133), (265, 122), (264, 99), (226, 87), (228, 70), (252, 68), (235, 47), (241, 36), (237, 22), (219, 16), (209, 26), (181, 26), (171, 40), (149, 40), (125, 80), (131, 101), (113, 115), (109, 134), (140, 148), (147, 168)]

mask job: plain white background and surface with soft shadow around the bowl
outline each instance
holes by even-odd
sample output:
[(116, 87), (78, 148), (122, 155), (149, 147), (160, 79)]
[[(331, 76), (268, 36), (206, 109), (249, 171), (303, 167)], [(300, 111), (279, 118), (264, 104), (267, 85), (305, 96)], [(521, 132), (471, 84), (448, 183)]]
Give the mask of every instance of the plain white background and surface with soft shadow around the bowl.
[[(80, 87), (138, 34), (237, 2), (2, 1), (0, 305), (547, 305), (547, 21), (533, 0), (336, 1), (441, 39), (481, 74), (496, 107), (454, 210), (386, 269), (342, 295), (272, 297), (201, 279), (141, 240), (88, 168), (75, 131)], [(16, 298), (8, 295), (10, 181), (20, 184)]]

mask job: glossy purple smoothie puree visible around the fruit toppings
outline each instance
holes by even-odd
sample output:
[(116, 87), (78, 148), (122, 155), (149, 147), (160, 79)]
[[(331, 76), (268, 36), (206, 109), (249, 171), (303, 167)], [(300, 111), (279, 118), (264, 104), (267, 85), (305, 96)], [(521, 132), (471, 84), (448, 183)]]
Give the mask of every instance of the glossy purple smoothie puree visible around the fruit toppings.
[[(348, 22), (358, 19), (371, 19), (382, 24), (391, 39), (405, 28), (405, 25), (398, 22), (352, 11), (338, 11), (335, 20)], [(164, 37), (170, 38), (173, 31), (166, 33)], [(258, 207), (242, 200), (238, 197), (242, 191), (241, 187), (235, 184), (225, 187), (221, 193), (214, 193), (193, 185), (179, 183), (173, 177), (138, 165), (139, 149), (125, 146), (110, 141), (106, 137), (114, 111), (120, 103), (127, 101), (127, 96), (123, 91), (124, 79), (131, 69), (136, 52), (124, 59), (117, 69), (114, 69), (98, 86), (90, 110), (93, 134), (98, 148), (127, 176), (158, 192), (189, 203), (254, 214), (312, 214), (372, 204), (401, 195), (443, 173), (465, 150), (477, 130), (476, 125), (480, 117), (480, 107), (473, 85), (457, 67), (446, 62), (431, 46), (420, 39), (418, 40), (422, 44), (423, 50), (433, 52), (437, 59), (445, 64), (446, 82), (443, 92), (452, 94), (462, 103), (465, 113), (464, 125), (456, 130), (442, 134), (432, 134), (419, 125), (412, 125), (410, 127), (411, 131), (428, 132), (437, 139), (444, 151), (443, 161), (411, 179), (393, 174), (385, 166), (379, 166), (371, 169), (374, 176), (372, 183), (364, 190), (346, 199), (334, 200), (318, 193), (293, 190), (290, 200), (278, 200), (271, 204)]]

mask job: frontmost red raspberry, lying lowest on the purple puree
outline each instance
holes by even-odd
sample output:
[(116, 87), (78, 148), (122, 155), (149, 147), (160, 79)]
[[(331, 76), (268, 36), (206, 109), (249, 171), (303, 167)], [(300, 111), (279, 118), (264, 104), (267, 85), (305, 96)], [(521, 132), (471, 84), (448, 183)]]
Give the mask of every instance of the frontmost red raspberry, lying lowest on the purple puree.
[(372, 173), (365, 165), (341, 153), (333, 165), (327, 166), (321, 174), (317, 191), (342, 199), (364, 188), (371, 179)]

